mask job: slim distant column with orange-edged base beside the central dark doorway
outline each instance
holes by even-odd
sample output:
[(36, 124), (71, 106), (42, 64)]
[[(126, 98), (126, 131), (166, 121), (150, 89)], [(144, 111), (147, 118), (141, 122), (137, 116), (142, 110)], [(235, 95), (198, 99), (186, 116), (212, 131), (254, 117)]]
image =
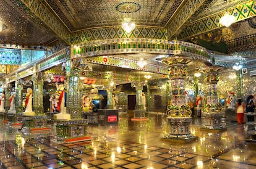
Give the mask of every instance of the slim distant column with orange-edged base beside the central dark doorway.
[(143, 90), (143, 82), (132, 82), (132, 87), (135, 87), (136, 90), (136, 105), (134, 110), (134, 118), (132, 121), (135, 120), (147, 120), (146, 112), (147, 109), (143, 109), (143, 99), (142, 99), (142, 90)]

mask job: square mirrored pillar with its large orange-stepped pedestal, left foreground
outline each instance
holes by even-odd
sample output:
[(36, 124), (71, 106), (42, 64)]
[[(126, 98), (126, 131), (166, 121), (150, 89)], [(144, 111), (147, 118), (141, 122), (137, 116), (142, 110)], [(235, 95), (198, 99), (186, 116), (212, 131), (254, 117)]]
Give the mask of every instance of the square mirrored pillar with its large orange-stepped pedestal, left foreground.
[[(61, 91), (67, 93), (67, 105), (62, 112), (54, 115), (56, 122), (56, 139), (57, 141), (77, 142), (90, 139), (87, 135), (87, 120), (82, 118), (80, 107), (80, 90), (79, 90), (79, 69), (72, 67), (71, 64), (77, 64), (77, 60), (66, 61), (66, 86), (61, 86)], [(63, 93), (62, 93), (63, 95)]]

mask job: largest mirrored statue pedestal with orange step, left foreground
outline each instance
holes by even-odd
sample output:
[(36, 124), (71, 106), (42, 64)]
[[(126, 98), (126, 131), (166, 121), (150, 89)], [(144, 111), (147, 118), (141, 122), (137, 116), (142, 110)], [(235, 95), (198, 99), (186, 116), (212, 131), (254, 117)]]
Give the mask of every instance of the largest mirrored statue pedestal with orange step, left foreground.
[(56, 141), (78, 142), (90, 139), (87, 136), (87, 120), (56, 120)]

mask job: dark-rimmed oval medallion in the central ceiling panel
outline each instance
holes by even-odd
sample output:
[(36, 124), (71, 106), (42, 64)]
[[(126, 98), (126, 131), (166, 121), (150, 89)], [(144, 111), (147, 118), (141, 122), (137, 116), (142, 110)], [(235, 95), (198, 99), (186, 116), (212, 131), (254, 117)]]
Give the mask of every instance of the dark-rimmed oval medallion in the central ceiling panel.
[(122, 13), (133, 13), (140, 10), (140, 4), (136, 2), (122, 2), (116, 6), (116, 10)]

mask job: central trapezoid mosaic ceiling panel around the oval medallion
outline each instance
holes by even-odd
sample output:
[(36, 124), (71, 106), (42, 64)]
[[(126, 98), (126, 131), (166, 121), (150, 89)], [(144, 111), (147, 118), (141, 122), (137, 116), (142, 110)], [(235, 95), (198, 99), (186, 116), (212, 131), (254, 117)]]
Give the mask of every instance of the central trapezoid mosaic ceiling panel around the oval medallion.
[[(46, 1), (71, 31), (119, 26), (126, 17), (133, 19), (136, 25), (164, 27), (182, 2), (181, 0)], [(124, 11), (125, 8), (127, 9), (127, 2), (130, 4), (129, 12)]]

